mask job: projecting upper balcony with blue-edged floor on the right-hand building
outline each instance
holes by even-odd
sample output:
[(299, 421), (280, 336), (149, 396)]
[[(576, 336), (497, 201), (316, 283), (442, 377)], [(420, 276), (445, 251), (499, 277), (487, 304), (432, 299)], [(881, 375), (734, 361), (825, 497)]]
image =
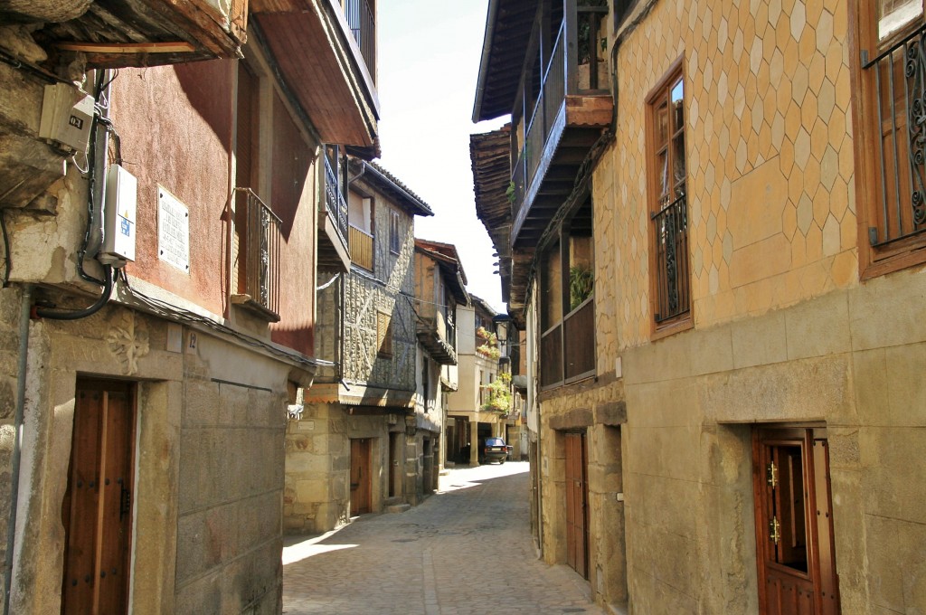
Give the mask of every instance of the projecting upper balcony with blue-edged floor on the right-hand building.
[[(537, 54), (542, 66), (532, 73), (540, 75), (539, 83), (525, 79), (519, 107), (512, 115), (519, 128), (512, 136), (518, 154), (511, 177), (514, 248), (536, 245), (572, 193), (582, 162), (612, 119), (609, 78), (595, 53), (607, 8), (578, 3), (581, 0), (565, 0), (566, 17), (549, 51)], [(578, 40), (580, 31), (586, 40)], [(593, 51), (580, 57), (580, 48)], [(544, 57), (548, 61), (542, 62)]]

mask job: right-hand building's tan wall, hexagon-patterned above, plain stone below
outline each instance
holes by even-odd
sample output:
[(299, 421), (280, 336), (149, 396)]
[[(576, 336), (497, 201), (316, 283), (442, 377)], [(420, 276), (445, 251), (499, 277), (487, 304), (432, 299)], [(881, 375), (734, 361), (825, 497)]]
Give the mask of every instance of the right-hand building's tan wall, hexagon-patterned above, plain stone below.
[[(639, 3), (613, 56), (616, 139), (593, 177), (597, 369), (626, 394), (632, 612), (757, 610), (754, 424), (826, 426), (843, 612), (926, 609), (913, 547), (926, 540), (913, 495), (926, 484), (926, 387), (912, 367), (926, 358), (926, 274), (859, 282), (848, 10)], [(652, 341), (645, 99), (676, 60), (694, 330)], [(551, 559), (560, 471), (546, 445), (562, 416), (594, 402), (541, 402)], [(598, 431), (587, 431), (593, 515)], [(617, 508), (600, 510), (619, 525)]]

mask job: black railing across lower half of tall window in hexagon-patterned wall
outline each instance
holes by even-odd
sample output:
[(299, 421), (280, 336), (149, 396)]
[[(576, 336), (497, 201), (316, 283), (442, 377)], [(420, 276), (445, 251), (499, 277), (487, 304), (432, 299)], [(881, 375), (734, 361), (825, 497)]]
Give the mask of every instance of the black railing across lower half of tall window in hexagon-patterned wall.
[(685, 196), (652, 214), (656, 225), (656, 322), (688, 312), (691, 278), (688, 270), (688, 207)]

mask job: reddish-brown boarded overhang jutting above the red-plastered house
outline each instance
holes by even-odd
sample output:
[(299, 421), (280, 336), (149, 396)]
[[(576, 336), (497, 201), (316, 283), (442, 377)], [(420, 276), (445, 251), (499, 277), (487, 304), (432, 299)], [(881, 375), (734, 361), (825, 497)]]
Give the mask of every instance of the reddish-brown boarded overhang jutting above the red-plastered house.
[[(379, 154), (373, 77), (335, 0), (251, 0), (252, 23), (324, 143)], [(356, 148), (360, 148), (357, 150)]]

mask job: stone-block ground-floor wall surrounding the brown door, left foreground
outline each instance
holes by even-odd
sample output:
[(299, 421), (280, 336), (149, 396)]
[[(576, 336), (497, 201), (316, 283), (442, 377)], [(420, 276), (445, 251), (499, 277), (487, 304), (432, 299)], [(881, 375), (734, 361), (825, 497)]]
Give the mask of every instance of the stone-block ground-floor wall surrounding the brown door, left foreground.
[[(16, 293), (0, 295), (8, 304)], [(15, 357), (14, 346), (2, 352)], [(291, 369), (115, 304), (32, 321), (11, 612), (60, 610), (78, 374), (136, 383), (132, 612), (279, 612)]]

